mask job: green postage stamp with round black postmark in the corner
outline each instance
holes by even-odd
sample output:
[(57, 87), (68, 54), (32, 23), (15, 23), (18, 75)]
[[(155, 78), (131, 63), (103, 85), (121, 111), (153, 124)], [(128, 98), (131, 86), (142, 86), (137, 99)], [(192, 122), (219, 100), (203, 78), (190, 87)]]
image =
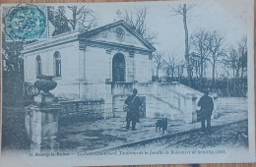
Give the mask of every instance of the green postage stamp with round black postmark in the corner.
[(19, 4), (4, 8), (6, 40), (30, 41), (47, 38), (46, 6)]

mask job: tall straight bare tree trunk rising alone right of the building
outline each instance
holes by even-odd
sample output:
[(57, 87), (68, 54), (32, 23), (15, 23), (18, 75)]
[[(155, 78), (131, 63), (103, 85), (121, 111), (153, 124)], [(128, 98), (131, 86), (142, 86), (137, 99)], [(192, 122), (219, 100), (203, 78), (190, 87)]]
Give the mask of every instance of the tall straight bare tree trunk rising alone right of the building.
[(183, 5), (183, 24), (185, 30), (185, 60), (187, 67), (187, 75), (188, 75), (188, 85), (191, 86), (191, 70), (190, 70), (190, 62), (189, 62), (189, 50), (188, 50), (188, 28), (187, 28), (187, 7), (186, 4)]

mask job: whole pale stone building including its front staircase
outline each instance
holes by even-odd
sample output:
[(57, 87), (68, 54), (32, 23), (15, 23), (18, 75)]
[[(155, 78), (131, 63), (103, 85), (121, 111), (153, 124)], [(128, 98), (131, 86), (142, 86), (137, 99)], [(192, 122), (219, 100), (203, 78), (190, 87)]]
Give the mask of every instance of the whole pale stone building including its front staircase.
[(202, 93), (180, 83), (151, 82), (155, 50), (123, 21), (63, 33), (25, 46), (25, 82), (34, 83), (39, 75), (54, 76), (57, 87), (51, 92), (55, 96), (62, 100), (100, 99), (104, 118), (122, 113), (124, 99), (136, 87), (145, 116), (193, 122), (196, 100)]

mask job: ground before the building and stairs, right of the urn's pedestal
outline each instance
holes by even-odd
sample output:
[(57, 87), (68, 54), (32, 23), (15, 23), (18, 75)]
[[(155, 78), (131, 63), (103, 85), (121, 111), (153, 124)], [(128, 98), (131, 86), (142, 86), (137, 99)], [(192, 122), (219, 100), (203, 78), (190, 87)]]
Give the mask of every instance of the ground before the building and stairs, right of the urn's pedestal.
[[(155, 125), (158, 119), (144, 118), (136, 126), (136, 131), (125, 130), (125, 113), (119, 118), (109, 118), (92, 122), (80, 122), (59, 127), (60, 149), (76, 149), (79, 151), (105, 150), (123, 145), (136, 145), (137, 142), (162, 147), (177, 146), (246, 146), (248, 145), (248, 111), (247, 106), (219, 106), (219, 117), (212, 120), (213, 134), (199, 135), (200, 122), (186, 124), (181, 121), (168, 121), (167, 135), (161, 142), (151, 142), (162, 137), (156, 133)], [(142, 141), (142, 142), (141, 142)], [(141, 146), (141, 145), (137, 146)]]

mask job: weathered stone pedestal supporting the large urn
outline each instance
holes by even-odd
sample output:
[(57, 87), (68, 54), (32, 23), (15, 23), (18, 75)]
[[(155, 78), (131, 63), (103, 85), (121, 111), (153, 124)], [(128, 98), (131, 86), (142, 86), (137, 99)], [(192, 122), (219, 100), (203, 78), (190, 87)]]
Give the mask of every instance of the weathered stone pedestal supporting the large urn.
[(61, 105), (54, 102), (51, 94), (38, 95), (33, 98), (34, 104), (25, 108), (25, 126), (31, 139), (31, 151), (41, 149), (57, 150), (58, 117)]

